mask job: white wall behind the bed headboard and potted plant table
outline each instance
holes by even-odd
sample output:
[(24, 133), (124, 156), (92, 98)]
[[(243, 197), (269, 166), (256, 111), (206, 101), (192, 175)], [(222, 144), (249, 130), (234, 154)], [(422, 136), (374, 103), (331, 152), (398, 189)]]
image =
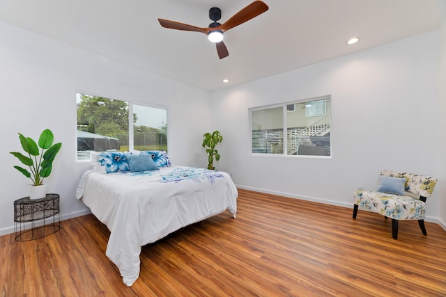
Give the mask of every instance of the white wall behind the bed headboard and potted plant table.
[(172, 161), (206, 166), (201, 141), (211, 123), (208, 92), (0, 22), (0, 234), (14, 232), (13, 201), (29, 195), (29, 180), (13, 168), (20, 162), (8, 153), (22, 151), (18, 132), (38, 138), (52, 129), (63, 146), (45, 179), (47, 191), (61, 195), (61, 218), (88, 212), (75, 200), (79, 178), (89, 168), (75, 161), (77, 90), (167, 106)]

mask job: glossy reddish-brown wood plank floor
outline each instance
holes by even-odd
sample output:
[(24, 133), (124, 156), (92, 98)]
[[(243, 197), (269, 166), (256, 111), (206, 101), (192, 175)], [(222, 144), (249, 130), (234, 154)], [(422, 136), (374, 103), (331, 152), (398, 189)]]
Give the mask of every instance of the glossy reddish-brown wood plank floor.
[(225, 212), (141, 252), (132, 287), (94, 216), (43, 239), (0, 236), (0, 296), (446, 296), (446, 232), (352, 209), (239, 190)]

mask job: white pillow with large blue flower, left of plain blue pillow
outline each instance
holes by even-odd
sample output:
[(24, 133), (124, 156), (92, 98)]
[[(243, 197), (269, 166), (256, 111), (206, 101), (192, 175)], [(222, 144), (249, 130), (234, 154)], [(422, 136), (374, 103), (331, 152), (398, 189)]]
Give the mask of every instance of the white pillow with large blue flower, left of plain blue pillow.
[(91, 168), (102, 174), (130, 170), (123, 152), (91, 152)]

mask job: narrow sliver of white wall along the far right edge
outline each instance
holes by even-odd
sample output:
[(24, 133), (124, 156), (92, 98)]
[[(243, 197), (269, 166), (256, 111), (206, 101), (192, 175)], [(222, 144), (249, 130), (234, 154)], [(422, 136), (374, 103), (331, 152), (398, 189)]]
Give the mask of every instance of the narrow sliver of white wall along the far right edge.
[(440, 209), (440, 225), (443, 229), (446, 230), (446, 21), (443, 22), (442, 26), (439, 29), (439, 39), (440, 39), (440, 56), (438, 63), (438, 118), (440, 119), (440, 134), (439, 134), (439, 142), (438, 145), (440, 147), (440, 158), (438, 159), (438, 165), (440, 167), (440, 200), (438, 201), (439, 209)]

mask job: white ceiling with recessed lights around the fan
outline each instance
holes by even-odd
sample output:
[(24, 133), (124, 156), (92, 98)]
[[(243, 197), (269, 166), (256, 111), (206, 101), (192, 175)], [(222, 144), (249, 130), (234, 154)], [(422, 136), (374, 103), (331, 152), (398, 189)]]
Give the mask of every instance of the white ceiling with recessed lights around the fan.
[[(253, 0), (0, 0), (0, 20), (204, 90), (218, 90), (437, 29), (446, 0), (264, 0), (269, 10), (224, 34), (229, 56), (197, 32)], [(346, 45), (360, 36), (356, 45)], [(222, 79), (230, 79), (222, 83)]]

